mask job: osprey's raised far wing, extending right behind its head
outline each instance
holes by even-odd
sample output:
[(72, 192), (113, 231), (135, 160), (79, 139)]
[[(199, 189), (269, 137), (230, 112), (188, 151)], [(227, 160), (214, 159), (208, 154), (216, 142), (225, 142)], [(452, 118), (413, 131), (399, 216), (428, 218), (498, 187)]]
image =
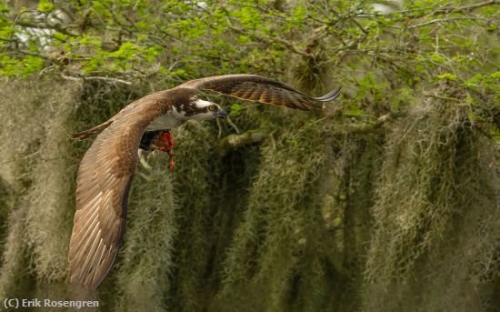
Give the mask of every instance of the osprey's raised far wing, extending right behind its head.
[(318, 102), (329, 102), (340, 96), (340, 87), (325, 96), (313, 97), (260, 75), (215, 75), (186, 82), (179, 87), (215, 91), (247, 101), (261, 102), (277, 106), (287, 106), (302, 110), (321, 108)]

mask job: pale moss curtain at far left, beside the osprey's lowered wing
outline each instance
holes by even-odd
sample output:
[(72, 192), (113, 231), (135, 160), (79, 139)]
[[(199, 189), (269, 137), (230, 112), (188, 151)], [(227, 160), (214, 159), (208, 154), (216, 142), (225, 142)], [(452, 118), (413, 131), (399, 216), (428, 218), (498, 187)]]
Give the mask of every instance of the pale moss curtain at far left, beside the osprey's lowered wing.
[(51, 93), (53, 81), (36, 82), (36, 88), (33, 84), (16, 81), (2, 86), (2, 178), (14, 192), (1, 276), (3, 296), (21, 292), (22, 280), (63, 281), (67, 269), (72, 182), (65, 172), (65, 121), (78, 86), (65, 84)]

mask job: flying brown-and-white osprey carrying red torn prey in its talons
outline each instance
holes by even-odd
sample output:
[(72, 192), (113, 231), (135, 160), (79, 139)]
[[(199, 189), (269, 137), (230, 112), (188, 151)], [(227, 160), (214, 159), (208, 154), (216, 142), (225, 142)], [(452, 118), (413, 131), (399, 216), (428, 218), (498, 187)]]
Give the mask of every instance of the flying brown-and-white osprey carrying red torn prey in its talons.
[(340, 87), (325, 96), (312, 97), (260, 75), (218, 75), (144, 96), (102, 125), (71, 135), (84, 139), (102, 130), (86, 151), (76, 179), (76, 212), (68, 255), (72, 283), (96, 288), (115, 262), (125, 233), (137, 149), (167, 152), (172, 170), (170, 129), (190, 119), (226, 117), (220, 106), (198, 97), (201, 90), (301, 110), (321, 108), (317, 102), (340, 95)]

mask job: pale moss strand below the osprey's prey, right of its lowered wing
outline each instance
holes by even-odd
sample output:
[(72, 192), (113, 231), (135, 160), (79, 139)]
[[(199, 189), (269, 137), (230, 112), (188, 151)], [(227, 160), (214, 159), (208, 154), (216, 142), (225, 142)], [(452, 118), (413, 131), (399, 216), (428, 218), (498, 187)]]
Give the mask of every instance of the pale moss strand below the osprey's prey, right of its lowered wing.
[[(165, 155), (150, 155), (135, 174), (125, 244), (118, 259), (117, 310), (165, 311), (174, 267), (175, 195)], [(148, 165), (147, 165), (148, 164)], [(116, 272), (116, 271), (115, 271)], [(111, 278), (110, 278), (111, 280)]]

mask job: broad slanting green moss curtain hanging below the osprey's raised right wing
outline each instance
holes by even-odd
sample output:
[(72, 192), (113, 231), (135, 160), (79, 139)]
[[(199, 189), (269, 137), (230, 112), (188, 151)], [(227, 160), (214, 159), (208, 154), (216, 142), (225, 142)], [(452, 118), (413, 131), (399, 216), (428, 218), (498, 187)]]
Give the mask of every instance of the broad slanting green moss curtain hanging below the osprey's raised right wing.
[[(307, 286), (309, 297), (325, 300), (325, 261), (320, 253), (310, 262), (318, 268), (303, 274), (314, 250), (325, 250), (318, 219), (316, 186), (325, 166), (327, 148), (321, 128), (285, 136), (263, 150), (263, 162), (248, 196), (244, 219), (225, 261), (219, 307), (284, 310), (307, 306), (294, 293)], [(321, 224), (321, 223), (319, 223)], [(322, 300), (312, 300), (320, 307)], [(310, 304), (311, 302), (309, 302)], [(314, 310), (314, 307), (308, 307)], [(215, 308), (216, 310), (216, 308)], [(289, 310), (289, 309), (288, 309)]]

